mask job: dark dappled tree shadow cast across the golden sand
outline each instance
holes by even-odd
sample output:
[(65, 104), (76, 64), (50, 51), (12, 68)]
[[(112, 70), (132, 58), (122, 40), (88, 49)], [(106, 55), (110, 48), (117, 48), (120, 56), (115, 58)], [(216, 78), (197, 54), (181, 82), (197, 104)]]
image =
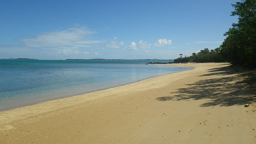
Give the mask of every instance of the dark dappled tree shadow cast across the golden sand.
[(255, 69), (227, 66), (208, 69), (208, 72), (210, 73), (202, 76), (221, 75), (225, 77), (200, 80), (196, 83), (187, 84), (188, 88), (170, 92), (174, 94), (173, 96), (158, 97), (156, 100), (209, 99), (206, 103), (201, 104), (201, 107), (242, 105), (256, 101)]

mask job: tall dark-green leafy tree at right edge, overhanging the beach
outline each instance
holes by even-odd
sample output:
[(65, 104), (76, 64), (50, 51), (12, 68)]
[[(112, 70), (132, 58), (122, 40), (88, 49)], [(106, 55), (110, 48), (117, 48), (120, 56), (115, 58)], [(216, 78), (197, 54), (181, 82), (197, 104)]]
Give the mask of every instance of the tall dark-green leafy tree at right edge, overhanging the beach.
[(234, 65), (256, 67), (256, 0), (242, 0), (231, 4), (238, 23), (224, 33), (227, 38), (221, 48), (222, 55)]

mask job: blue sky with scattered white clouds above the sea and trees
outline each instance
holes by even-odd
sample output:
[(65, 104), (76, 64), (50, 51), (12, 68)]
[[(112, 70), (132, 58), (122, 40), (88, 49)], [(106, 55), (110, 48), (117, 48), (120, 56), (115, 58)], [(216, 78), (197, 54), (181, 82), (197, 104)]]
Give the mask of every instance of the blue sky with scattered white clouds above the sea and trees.
[(240, 0), (8, 0), (0, 59), (176, 59), (219, 47)]

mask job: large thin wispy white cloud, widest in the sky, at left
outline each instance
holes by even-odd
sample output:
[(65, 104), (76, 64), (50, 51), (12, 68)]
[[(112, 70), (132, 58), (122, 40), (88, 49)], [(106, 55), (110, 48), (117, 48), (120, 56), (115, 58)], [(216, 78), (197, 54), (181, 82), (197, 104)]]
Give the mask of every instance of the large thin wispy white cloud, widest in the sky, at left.
[(104, 42), (104, 40), (92, 40), (89, 36), (95, 32), (86, 27), (74, 27), (61, 31), (44, 32), (34, 38), (20, 38), (19, 40), (27, 47), (68, 47), (80, 48)]

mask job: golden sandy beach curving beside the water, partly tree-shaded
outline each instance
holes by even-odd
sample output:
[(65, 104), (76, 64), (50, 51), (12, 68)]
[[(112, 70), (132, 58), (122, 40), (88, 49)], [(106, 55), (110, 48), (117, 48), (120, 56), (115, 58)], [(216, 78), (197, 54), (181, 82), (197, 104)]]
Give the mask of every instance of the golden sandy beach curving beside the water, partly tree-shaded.
[(256, 143), (248, 73), (171, 65), (195, 69), (0, 112), (0, 143)]

